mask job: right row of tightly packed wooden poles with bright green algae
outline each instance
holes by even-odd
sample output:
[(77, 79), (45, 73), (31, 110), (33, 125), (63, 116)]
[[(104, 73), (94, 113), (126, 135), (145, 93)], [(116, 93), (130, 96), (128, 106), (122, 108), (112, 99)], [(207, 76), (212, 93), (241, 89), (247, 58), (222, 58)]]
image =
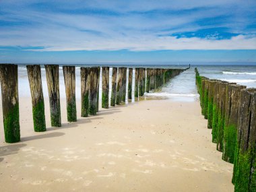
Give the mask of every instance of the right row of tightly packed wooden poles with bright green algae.
[(222, 159), (233, 163), (234, 191), (256, 191), (256, 89), (199, 75), (201, 113)]

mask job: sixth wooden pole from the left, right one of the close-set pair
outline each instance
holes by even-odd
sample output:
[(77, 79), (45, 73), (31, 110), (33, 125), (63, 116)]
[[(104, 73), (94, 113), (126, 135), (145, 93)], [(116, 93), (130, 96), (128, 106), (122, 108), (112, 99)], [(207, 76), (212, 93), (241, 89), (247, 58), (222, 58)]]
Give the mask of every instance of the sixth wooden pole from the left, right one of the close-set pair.
[(90, 92), (89, 92), (89, 114), (96, 115), (97, 113), (97, 98), (98, 98), (98, 67), (90, 68)]

